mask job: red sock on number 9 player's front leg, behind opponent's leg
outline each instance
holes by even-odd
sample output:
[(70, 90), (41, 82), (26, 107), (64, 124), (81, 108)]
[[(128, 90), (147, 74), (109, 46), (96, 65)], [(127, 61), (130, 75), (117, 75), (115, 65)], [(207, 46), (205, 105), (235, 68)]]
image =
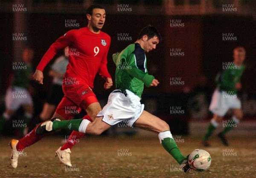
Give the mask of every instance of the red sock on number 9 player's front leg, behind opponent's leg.
[[(89, 115), (85, 115), (83, 119), (87, 119), (89, 121), (92, 121)], [(80, 139), (84, 136), (84, 133), (80, 133), (77, 131), (74, 131), (70, 134), (68, 137), (66, 143), (61, 147), (61, 150), (66, 150), (66, 149), (72, 149), (72, 147), (80, 141)]]

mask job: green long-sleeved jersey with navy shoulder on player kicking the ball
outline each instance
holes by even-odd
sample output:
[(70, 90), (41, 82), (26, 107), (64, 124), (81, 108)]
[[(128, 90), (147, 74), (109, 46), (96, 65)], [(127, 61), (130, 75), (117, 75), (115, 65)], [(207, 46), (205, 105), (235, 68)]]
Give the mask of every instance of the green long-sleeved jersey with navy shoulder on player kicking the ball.
[(128, 45), (120, 53), (113, 54), (116, 64), (116, 89), (130, 90), (135, 95), (141, 95), (144, 84), (149, 87), (154, 76), (148, 74), (145, 51), (139, 43)]

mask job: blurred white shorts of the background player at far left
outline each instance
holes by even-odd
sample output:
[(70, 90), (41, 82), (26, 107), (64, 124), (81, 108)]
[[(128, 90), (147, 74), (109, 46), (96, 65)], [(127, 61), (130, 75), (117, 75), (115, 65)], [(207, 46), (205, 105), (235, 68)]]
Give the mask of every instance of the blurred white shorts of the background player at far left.
[(33, 100), (28, 90), (20, 87), (8, 88), (6, 91), (6, 109), (17, 110), (21, 105), (33, 105)]

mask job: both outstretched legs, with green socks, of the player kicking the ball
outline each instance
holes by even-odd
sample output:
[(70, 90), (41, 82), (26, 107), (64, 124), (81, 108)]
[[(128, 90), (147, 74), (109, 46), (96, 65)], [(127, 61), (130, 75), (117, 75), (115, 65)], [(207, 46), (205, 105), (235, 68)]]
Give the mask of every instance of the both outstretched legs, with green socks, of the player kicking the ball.
[[(100, 135), (103, 131), (108, 130), (108, 128), (111, 127), (109, 124), (102, 121), (102, 118), (103, 116), (97, 117), (93, 122), (86, 119), (54, 121), (52, 123), (52, 130), (69, 129), (87, 134)], [(180, 153), (177, 144), (172, 138), (169, 125), (165, 121), (144, 110), (142, 115), (135, 122), (135, 126), (158, 133), (160, 143), (165, 150), (171, 154), (180, 165), (182, 165), (185, 172), (190, 171), (190, 167), (187, 164), (187, 158)], [(45, 127), (41, 127), (40, 129), (45, 131)]]

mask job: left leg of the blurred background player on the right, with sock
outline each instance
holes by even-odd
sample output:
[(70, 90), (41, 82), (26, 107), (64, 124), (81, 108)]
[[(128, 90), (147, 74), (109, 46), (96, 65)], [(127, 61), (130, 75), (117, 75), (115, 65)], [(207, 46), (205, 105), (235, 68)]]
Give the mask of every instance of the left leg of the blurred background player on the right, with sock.
[(210, 144), (208, 142), (209, 137), (212, 136), (212, 133), (216, 130), (216, 128), (219, 125), (219, 122), (223, 120), (223, 116), (218, 116), (217, 114), (213, 114), (213, 117), (209, 123), (209, 126), (207, 128), (207, 133), (204, 135), (202, 144), (205, 147), (209, 147)]

